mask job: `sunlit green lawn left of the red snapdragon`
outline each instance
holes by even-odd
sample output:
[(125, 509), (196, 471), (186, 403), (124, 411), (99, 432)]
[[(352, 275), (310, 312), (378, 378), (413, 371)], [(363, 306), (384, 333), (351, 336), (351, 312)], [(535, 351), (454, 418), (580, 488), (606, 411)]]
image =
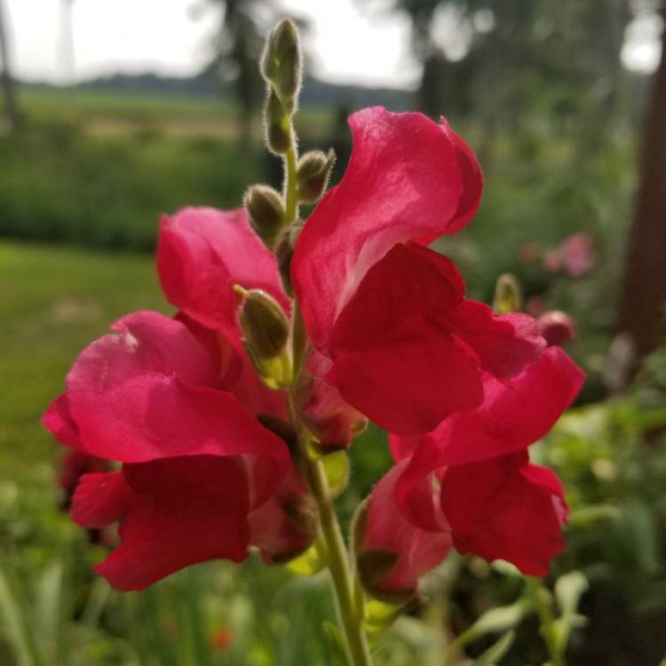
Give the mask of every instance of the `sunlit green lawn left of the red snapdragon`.
[(30, 472), (59, 453), (40, 422), (76, 355), (123, 313), (169, 311), (153, 261), (0, 243), (0, 469)]

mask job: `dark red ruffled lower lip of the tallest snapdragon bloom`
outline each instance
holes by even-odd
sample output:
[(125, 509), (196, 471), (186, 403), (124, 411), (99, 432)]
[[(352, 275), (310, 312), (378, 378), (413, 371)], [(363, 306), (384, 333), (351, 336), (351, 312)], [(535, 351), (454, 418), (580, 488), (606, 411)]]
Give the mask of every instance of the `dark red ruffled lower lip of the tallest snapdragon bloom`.
[(329, 380), (350, 405), (400, 435), (429, 432), (449, 414), (479, 406), (484, 363), (515, 373), (544, 343), (523, 318), (497, 317), (463, 294), (448, 258), (395, 245), (337, 318)]

